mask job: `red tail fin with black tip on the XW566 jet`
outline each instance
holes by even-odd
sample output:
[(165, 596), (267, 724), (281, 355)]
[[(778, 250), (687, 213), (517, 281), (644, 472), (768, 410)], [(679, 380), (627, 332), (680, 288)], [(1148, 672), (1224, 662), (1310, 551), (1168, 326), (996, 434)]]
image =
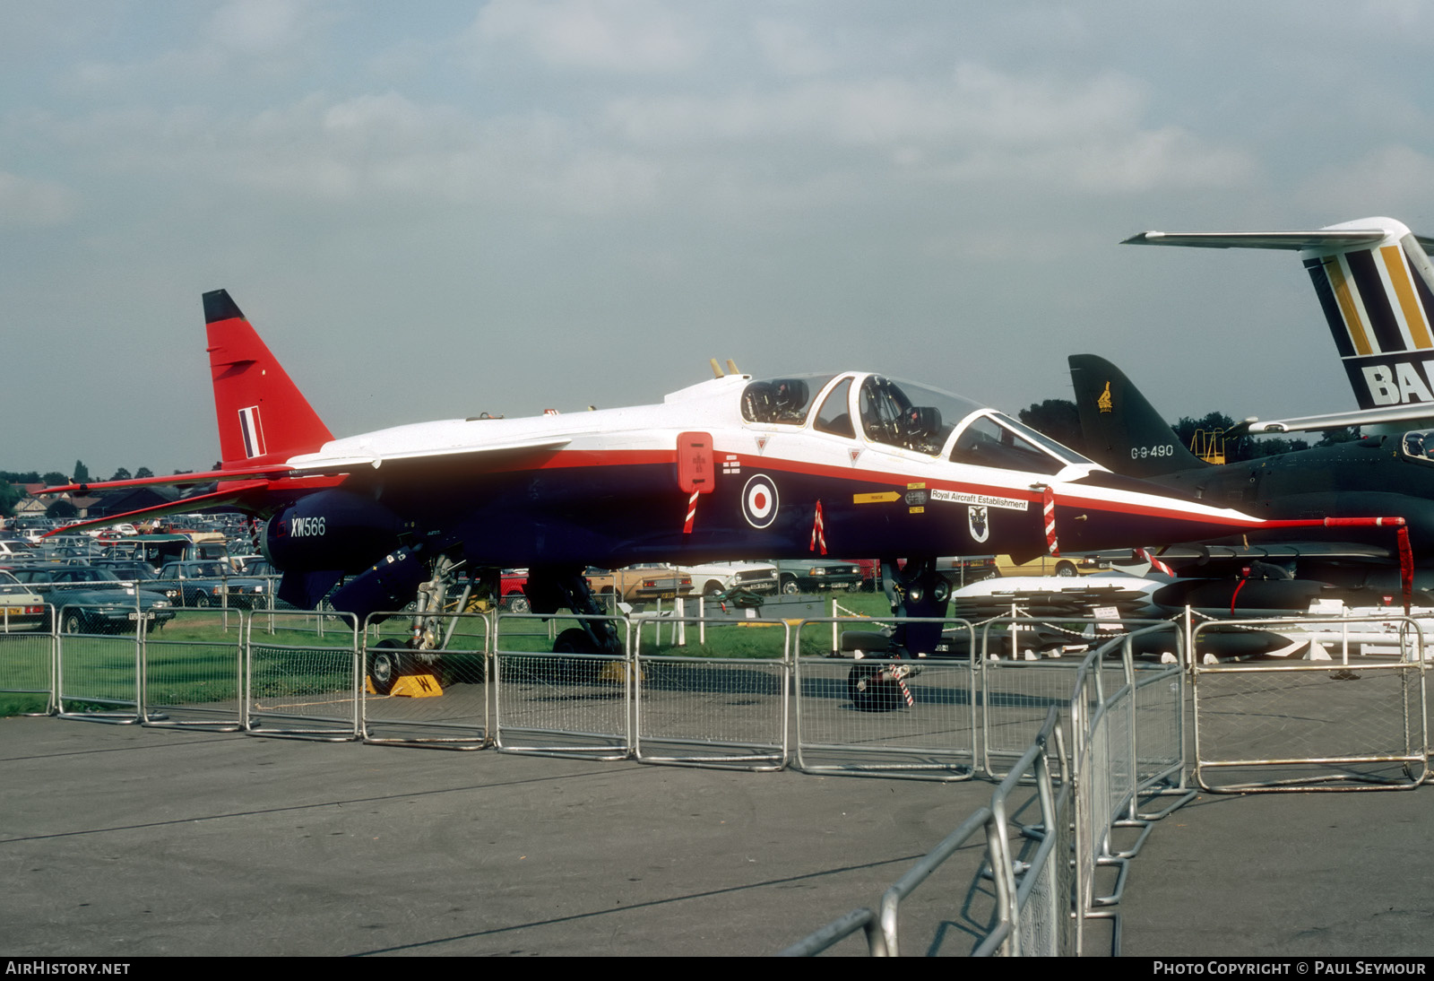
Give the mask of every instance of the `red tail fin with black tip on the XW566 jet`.
[(334, 436), (227, 290), (204, 294), (221, 469), (280, 463)]

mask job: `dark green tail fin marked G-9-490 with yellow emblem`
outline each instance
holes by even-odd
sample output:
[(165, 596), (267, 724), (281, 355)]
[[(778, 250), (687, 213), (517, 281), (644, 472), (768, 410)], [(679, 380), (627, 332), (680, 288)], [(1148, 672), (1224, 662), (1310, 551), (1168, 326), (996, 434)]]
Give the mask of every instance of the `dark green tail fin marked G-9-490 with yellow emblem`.
[(1134, 478), (1202, 466), (1124, 371), (1094, 354), (1071, 354), (1068, 361), (1086, 456)]

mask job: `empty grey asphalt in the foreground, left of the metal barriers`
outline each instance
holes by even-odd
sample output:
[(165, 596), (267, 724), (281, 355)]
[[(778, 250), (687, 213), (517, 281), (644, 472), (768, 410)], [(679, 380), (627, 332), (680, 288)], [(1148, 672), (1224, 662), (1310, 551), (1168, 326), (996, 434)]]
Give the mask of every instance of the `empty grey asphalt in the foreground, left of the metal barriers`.
[[(0, 951), (113, 958), (773, 954), (992, 789), (56, 719), (0, 720)], [(908, 952), (974, 947), (978, 850)]]

